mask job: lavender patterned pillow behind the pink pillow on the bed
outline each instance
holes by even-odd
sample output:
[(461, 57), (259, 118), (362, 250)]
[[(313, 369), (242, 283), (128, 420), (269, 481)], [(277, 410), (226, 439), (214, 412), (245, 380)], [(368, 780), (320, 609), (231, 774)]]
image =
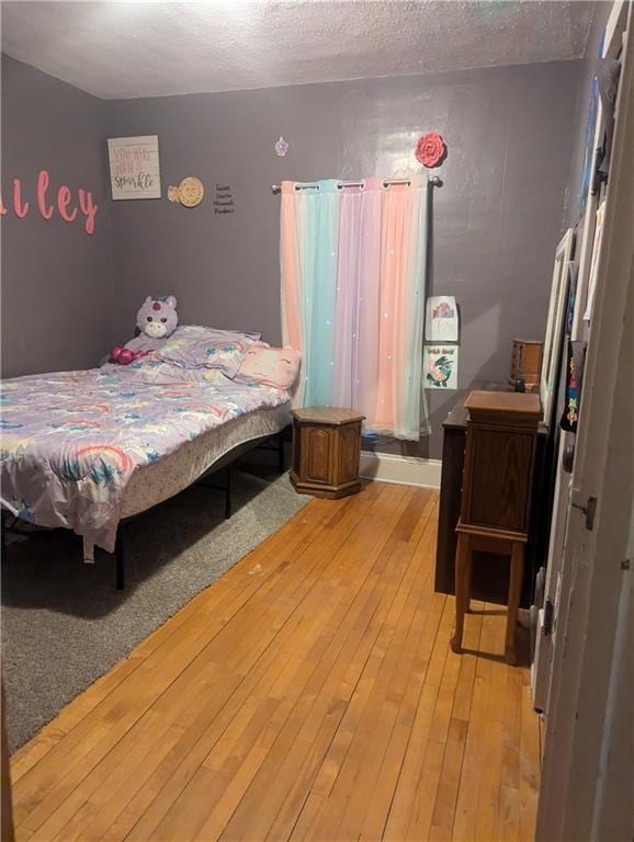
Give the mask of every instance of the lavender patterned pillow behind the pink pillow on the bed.
[(215, 337), (211, 333), (191, 338), (170, 337), (155, 356), (183, 368), (217, 368), (227, 377), (235, 377), (252, 340), (233, 335)]

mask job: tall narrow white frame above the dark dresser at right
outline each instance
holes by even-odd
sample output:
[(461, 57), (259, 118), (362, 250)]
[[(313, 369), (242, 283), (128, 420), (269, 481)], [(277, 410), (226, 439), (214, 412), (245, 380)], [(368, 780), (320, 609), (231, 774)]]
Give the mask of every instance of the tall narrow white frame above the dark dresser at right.
[(575, 231), (573, 228), (568, 228), (555, 250), (555, 265), (553, 268), (551, 300), (548, 303), (548, 318), (546, 320), (546, 334), (544, 338), (540, 397), (544, 411), (543, 421), (546, 426), (551, 425), (555, 390), (559, 375), (574, 247)]

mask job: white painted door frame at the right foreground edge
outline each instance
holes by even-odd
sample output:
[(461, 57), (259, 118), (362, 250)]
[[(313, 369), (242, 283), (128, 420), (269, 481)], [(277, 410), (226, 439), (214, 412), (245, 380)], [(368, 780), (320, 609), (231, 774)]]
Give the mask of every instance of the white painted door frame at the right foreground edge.
[[(632, 838), (632, 9), (561, 568), (536, 840)], [(622, 735), (627, 738), (623, 739)], [(621, 736), (621, 737), (618, 737)], [(614, 798), (614, 793), (619, 798)]]

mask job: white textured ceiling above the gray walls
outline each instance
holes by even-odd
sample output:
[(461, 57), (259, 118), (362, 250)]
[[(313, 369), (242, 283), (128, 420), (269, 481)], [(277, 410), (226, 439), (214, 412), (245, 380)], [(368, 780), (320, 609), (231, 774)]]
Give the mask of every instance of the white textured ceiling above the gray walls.
[(4, 0), (2, 49), (104, 99), (578, 58), (593, 3)]

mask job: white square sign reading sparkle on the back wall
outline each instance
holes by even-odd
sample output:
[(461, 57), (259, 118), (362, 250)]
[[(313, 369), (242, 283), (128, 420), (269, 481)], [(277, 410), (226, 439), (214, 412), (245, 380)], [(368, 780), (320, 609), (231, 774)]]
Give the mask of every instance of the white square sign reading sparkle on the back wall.
[(110, 138), (107, 155), (114, 200), (161, 197), (158, 135)]

